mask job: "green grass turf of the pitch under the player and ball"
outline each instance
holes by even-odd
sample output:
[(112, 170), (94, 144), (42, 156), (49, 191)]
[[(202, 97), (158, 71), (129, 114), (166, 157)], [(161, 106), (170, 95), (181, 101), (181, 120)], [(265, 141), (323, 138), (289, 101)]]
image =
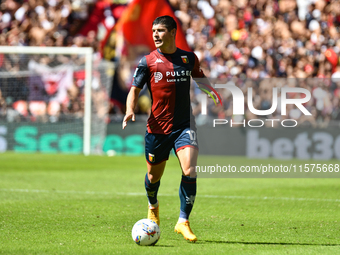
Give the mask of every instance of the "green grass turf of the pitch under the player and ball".
[(159, 191), (161, 239), (138, 246), (131, 229), (147, 213), (145, 165), (143, 157), (0, 154), (0, 254), (340, 253), (335, 178), (199, 178), (190, 218), (198, 241), (188, 243), (174, 233), (181, 174), (175, 157)]

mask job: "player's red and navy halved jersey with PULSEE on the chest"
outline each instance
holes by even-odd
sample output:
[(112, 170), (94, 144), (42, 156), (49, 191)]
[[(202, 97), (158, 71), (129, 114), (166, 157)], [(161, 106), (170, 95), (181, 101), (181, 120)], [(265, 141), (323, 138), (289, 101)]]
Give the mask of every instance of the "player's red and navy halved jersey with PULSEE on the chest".
[(177, 48), (173, 54), (164, 54), (154, 50), (140, 60), (132, 85), (143, 88), (147, 84), (150, 91), (149, 133), (170, 134), (172, 130), (190, 127), (190, 121), (194, 120), (190, 77), (205, 77), (193, 52)]

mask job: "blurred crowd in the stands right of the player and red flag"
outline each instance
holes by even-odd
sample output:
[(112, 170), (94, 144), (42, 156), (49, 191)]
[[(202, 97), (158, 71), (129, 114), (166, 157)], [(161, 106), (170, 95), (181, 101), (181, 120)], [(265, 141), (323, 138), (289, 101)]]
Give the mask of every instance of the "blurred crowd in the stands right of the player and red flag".
[[(246, 100), (247, 89), (252, 87), (254, 107), (259, 110), (271, 107), (273, 87), (311, 91), (312, 98), (305, 105), (311, 117), (291, 107), (286, 117), (280, 115), (280, 109), (271, 116), (255, 116), (246, 110), (245, 119), (284, 117), (313, 126), (340, 120), (340, 1), (170, 2), (213, 84), (232, 80), (243, 90)], [(201, 93), (197, 89), (192, 92)], [(210, 102), (208, 115), (235, 118), (231, 94), (224, 89), (218, 92), (223, 106)], [(192, 97), (193, 109), (200, 117), (197, 98)]]

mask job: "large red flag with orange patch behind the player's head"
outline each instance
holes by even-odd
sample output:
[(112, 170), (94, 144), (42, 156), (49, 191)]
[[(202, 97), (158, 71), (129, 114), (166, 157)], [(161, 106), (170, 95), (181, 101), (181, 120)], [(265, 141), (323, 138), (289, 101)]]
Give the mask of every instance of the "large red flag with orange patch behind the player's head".
[(179, 48), (191, 51), (179, 21), (166, 0), (134, 0), (124, 10), (115, 26), (131, 45), (145, 45), (156, 49), (152, 39), (152, 22), (159, 16), (168, 15), (177, 22), (176, 44)]

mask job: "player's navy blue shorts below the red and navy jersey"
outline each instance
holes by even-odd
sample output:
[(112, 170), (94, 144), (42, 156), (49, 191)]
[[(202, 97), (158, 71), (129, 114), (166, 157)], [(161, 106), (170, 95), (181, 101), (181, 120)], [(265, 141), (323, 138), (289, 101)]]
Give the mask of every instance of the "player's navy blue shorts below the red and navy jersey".
[(169, 135), (145, 133), (145, 158), (151, 165), (168, 160), (171, 149), (175, 152), (185, 148), (198, 149), (196, 131), (183, 128)]

